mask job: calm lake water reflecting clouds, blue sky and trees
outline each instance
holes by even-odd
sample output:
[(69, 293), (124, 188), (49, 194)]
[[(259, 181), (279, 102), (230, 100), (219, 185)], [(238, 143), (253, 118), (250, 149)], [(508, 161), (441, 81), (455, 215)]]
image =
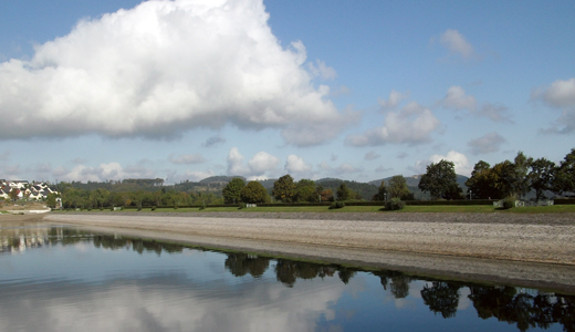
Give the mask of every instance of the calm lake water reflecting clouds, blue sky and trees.
[(0, 226), (0, 331), (575, 331), (575, 295)]

